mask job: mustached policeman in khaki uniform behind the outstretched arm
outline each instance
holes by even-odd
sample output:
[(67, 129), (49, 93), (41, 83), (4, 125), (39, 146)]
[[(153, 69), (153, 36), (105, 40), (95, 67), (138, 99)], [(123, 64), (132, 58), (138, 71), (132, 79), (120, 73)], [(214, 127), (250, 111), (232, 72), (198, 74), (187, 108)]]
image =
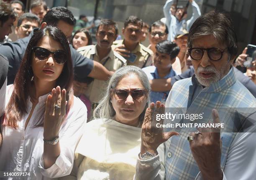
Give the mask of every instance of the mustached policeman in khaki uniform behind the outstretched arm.
[[(79, 47), (77, 51), (84, 57), (100, 62), (110, 71), (118, 70), (127, 64), (125, 58), (111, 49), (117, 35), (116, 23), (112, 20), (103, 19), (100, 21), (96, 32), (97, 45)], [(107, 81), (95, 79), (84, 92), (92, 103), (90, 117), (92, 117), (92, 112), (97, 107), (98, 101), (103, 97), (107, 85)]]

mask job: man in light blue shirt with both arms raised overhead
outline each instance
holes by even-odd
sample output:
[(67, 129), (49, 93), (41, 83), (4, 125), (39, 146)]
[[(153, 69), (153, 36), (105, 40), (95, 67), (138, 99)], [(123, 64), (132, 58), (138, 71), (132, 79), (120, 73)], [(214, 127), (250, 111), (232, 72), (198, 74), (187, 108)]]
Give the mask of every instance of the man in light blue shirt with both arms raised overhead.
[[(192, 5), (192, 17), (189, 20), (185, 20), (184, 17), (187, 14), (187, 6), (189, 2)], [(164, 17), (166, 18), (166, 25), (169, 30), (167, 40), (174, 40), (174, 37), (178, 34), (182, 34), (182, 30), (189, 31), (191, 25), (201, 15), (200, 7), (197, 5), (195, 0), (189, 0), (187, 6), (178, 5), (176, 7), (175, 16), (170, 12), (170, 8), (174, 3), (174, 0), (167, 0), (164, 5)]]

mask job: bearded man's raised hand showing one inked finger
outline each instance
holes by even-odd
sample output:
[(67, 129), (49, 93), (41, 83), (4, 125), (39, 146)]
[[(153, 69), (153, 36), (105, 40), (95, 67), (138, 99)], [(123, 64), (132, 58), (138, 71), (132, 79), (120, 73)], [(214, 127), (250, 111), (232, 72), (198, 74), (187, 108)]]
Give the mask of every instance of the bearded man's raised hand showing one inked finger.
[[(212, 110), (212, 120), (214, 124), (220, 123), (218, 111), (215, 109)], [(192, 155), (204, 180), (222, 180), (220, 128), (201, 128), (200, 132), (189, 135), (195, 137), (195, 140), (189, 141)]]

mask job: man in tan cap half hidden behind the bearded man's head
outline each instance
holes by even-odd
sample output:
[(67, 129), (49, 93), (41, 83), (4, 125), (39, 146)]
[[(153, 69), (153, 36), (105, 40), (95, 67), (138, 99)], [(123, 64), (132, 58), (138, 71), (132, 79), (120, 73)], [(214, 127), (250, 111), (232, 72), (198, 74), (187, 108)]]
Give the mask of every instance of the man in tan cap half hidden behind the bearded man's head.
[(176, 59), (178, 59), (180, 62), (181, 72), (184, 72), (188, 68), (186, 65), (187, 36), (188, 36), (188, 32), (184, 30), (182, 34), (176, 35), (174, 38), (174, 42), (179, 46), (179, 49), (180, 49)]

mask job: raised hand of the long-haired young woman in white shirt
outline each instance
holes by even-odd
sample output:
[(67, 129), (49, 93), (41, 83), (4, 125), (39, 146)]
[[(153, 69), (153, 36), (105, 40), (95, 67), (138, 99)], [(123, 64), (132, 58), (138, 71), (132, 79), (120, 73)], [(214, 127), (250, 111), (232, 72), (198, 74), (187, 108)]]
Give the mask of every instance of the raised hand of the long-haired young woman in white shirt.
[(44, 139), (52, 140), (59, 136), (61, 124), (66, 115), (66, 90), (59, 86), (51, 90), (46, 100), (44, 114)]

